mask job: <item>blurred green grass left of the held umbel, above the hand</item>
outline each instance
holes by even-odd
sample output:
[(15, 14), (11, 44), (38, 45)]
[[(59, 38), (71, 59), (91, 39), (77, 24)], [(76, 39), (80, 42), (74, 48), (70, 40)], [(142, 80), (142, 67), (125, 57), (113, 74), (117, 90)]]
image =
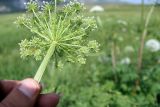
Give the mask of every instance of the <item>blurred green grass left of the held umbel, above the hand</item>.
[(17, 29), (13, 24), (19, 15), (5, 14), (0, 16), (0, 79), (32, 77), (35, 68), (32, 61), (23, 61), (19, 57), (18, 43), (28, 35), (27, 31)]

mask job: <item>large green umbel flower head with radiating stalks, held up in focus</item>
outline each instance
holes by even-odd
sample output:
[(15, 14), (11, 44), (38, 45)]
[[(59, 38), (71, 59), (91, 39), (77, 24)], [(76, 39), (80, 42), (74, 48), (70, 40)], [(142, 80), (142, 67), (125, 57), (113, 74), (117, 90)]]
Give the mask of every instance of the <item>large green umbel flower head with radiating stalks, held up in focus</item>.
[(30, 40), (19, 43), (22, 58), (33, 56), (42, 60), (50, 48), (55, 61), (85, 63), (91, 52), (97, 52), (99, 44), (89, 41), (89, 32), (97, 28), (94, 17), (85, 17), (84, 5), (73, 1), (56, 10), (54, 3), (37, 1), (26, 3), (27, 13), (17, 18), (16, 24), (32, 33)]

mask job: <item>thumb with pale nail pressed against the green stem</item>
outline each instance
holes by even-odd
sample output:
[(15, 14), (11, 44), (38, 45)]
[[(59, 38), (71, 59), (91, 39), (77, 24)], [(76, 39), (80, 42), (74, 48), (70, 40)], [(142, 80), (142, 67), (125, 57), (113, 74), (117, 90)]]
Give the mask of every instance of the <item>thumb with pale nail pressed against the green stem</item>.
[(33, 107), (39, 93), (39, 84), (33, 79), (25, 79), (10, 92), (1, 105), (2, 107)]

